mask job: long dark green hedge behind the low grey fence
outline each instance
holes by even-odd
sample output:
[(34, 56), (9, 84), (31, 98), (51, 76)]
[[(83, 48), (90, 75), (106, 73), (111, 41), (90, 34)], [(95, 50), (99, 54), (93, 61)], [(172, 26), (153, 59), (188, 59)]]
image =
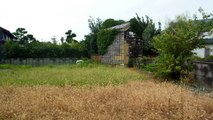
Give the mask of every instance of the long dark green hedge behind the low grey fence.
[(61, 45), (51, 42), (32, 42), (25, 47), (16, 42), (7, 41), (3, 45), (6, 58), (58, 58), (58, 57), (87, 57), (88, 54), (81, 43)]

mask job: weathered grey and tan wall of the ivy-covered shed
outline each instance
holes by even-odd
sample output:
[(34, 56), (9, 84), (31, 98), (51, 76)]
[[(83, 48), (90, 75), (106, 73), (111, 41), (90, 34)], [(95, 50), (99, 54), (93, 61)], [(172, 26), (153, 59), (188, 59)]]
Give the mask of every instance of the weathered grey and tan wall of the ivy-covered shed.
[(129, 61), (128, 48), (124, 40), (124, 32), (117, 34), (113, 43), (108, 47), (107, 53), (101, 57), (101, 63), (126, 65)]

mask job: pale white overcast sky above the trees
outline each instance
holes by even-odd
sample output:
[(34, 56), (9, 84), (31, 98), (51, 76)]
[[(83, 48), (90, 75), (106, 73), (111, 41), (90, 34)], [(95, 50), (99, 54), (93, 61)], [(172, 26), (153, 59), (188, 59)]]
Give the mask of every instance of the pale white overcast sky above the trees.
[(213, 13), (213, 0), (0, 0), (0, 26), (14, 32), (18, 27), (42, 41), (59, 40), (71, 29), (78, 41), (89, 33), (88, 18), (129, 20), (148, 15), (162, 24), (168, 18), (198, 13), (199, 7)]

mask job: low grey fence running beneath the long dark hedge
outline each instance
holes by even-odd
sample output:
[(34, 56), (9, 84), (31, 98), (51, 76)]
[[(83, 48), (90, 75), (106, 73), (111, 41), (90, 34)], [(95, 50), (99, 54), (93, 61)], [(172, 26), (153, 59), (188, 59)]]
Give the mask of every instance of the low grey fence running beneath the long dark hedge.
[(49, 64), (74, 64), (76, 61), (77, 58), (11, 58), (0, 60), (0, 64), (42, 66)]

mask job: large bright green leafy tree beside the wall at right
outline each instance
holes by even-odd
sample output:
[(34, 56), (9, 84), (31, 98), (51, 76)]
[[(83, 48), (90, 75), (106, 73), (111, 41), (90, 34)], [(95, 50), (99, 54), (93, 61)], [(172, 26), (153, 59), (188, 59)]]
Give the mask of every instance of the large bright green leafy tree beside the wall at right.
[(213, 20), (209, 17), (205, 14), (203, 20), (197, 20), (197, 17), (178, 16), (168, 22), (159, 36), (154, 37), (154, 47), (159, 52), (154, 68), (156, 75), (180, 78), (184, 63), (193, 55), (192, 51), (204, 45), (203, 33), (213, 28)]

